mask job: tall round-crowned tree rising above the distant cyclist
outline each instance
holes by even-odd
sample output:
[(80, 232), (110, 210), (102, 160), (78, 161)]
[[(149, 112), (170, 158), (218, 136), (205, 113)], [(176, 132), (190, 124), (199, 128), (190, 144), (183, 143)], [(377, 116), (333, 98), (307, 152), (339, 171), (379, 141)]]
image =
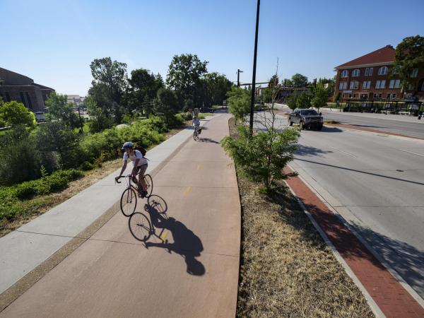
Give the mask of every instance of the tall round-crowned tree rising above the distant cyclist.
[(208, 61), (201, 61), (196, 54), (175, 55), (168, 69), (166, 83), (175, 91), (178, 102), (192, 99), (199, 104), (199, 90), (201, 90), (201, 76), (206, 72)]

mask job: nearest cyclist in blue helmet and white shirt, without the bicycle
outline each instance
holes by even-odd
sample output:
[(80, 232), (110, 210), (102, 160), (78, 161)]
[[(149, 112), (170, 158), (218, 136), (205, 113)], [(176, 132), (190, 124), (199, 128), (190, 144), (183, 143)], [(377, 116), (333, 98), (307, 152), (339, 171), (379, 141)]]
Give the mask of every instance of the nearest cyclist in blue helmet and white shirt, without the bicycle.
[[(143, 198), (147, 195), (147, 185), (143, 178), (147, 169), (147, 160), (143, 157), (141, 151), (134, 150), (134, 143), (131, 141), (124, 143), (122, 151), (124, 151), (124, 163), (122, 163), (121, 173), (119, 173), (119, 176), (115, 179), (122, 177), (122, 173), (124, 173), (126, 169), (126, 162), (128, 159), (131, 160), (133, 163), (131, 176), (133, 181), (139, 186), (139, 196)], [(137, 176), (139, 176), (139, 179), (137, 179)]]

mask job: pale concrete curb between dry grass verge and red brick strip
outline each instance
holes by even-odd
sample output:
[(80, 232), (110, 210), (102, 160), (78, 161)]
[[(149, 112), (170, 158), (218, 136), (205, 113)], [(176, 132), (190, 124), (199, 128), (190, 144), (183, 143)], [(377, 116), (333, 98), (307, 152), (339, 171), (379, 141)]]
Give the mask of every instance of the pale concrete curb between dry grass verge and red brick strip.
[[(285, 183), (285, 184), (287, 184), (287, 183)], [(382, 312), (382, 310), (380, 310), (380, 308), (378, 307), (377, 303), (372, 299), (370, 293), (368, 293), (368, 291), (365, 289), (364, 285), (360, 282), (360, 280), (355, 275), (355, 273), (353, 273), (351, 267), (348, 266), (348, 264), (343, 259), (343, 257), (341, 256), (341, 254), (338, 252), (338, 250), (336, 249), (336, 247), (333, 245), (333, 243), (331, 242), (331, 240), (329, 239), (329, 237), (325, 234), (324, 230), (322, 230), (322, 228), (318, 225), (317, 221), (315, 221), (315, 219), (313, 218), (313, 216), (311, 216), (311, 214), (309, 213), (309, 211), (307, 211), (307, 208), (303, 204), (303, 202), (298, 198), (298, 196), (295, 194), (295, 192), (293, 192), (293, 189), (288, 184), (287, 184), (287, 186), (288, 186), (288, 189), (290, 189), (290, 192), (293, 194), (293, 196), (295, 196), (296, 201), (298, 201), (298, 204), (302, 208), (303, 212), (310, 219), (312, 225), (314, 225), (314, 228), (319, 232), (319, 235), (321, 235), (321, 237), (324, 240), (324, 242), (326, 243), (326, 245), (331, 249), (331, 252), (333, 252), (334, 257), (336, 257), (336, 259), (341, 264), (341, 266), (343, 266), (343, 269), (345, 269), (345, 271), (348, 274), (348, 276), (352, 278), (353, 283), (355, 283), (355, 285), (358, 286), (359, 290), (364, 295), (365, 300), (367, 300), (368, 305), (370, 305), (371, 311), (375, 314), (375, 317), (377, 317), (377, 318), (379, 318), (379, 317), (381, 317), (381, 318), (386, 317), (386, 315), (384, 315), (383, 312)]]

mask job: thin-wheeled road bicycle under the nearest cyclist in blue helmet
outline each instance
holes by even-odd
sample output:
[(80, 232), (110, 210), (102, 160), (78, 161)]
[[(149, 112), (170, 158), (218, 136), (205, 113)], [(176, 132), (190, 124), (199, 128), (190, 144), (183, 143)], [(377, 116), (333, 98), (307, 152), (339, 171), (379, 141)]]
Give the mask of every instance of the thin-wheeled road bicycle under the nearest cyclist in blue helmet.
[[(117, 183), (121, 183), (119, 182), (119, 179), (123, 178), (119, 177), (119, 178), (115, 178), (115, 182)], [(131, 216), (134, 211), (136, 211), (136, 206), (137, 206), (137, 193), (139, 192), (138, 187), (135, 187), (131, 182), (132, 182), (132, 175), (126, 175), (126, 189), (124, 190), (124, 192), (122, 192), (122, 196), (121, 196), (121, 212), (122, 214), (124, 214), (124, 216)], [(146, 182), (146, 186), (147, 186), (147, 194), (146, 194), (146, 198), (149, 198), (152, 195), (152, 191), (153, 191), (153, 179), (151, 177), (151, 175), (143, 175), (143, 179)]]

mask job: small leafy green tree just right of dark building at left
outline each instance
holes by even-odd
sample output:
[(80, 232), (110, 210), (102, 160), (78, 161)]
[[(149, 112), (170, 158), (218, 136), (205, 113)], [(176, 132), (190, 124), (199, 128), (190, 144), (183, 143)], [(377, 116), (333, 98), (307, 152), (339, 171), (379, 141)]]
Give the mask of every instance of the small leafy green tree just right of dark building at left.
[(73, 112), (73, 104), (68, 102), (68, 97), (66, 95), (54, 92), (50, 93), (49, 98), (46, 100), (46, 107), (49, 109), (46, 115), (47, 121), (52, 122), (53, 120), (58, 120), (71, 129), (80, 126), (81, 123), (78, 119), (78, 115)]

